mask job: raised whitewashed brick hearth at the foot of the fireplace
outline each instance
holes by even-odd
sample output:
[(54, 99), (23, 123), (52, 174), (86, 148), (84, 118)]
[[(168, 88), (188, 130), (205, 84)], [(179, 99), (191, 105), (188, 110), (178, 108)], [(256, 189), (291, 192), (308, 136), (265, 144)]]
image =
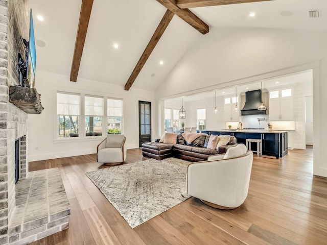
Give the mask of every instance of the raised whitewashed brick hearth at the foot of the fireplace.
[[(9, 243), (26, 244), (68, 228), (71, 213), (58, 168), (28, 173), (16, 185)], [(16, 242), (17, 241), (17, 242)]]

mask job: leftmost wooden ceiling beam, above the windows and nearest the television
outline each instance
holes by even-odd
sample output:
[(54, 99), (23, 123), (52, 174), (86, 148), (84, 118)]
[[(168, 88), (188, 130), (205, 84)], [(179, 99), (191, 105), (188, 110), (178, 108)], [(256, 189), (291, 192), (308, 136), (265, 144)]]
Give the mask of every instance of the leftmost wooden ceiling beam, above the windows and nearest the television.
[(71, 68), (71, 82), (77, 81), (78, 71), (81, 64), (83, 48), (88, 28), (88, 22), (91, 15), (93, 0), (82, 0), (80, 20), (78, 23), (78, 30), (75, 41), (75, 50), (73, 55), (73, 62)]

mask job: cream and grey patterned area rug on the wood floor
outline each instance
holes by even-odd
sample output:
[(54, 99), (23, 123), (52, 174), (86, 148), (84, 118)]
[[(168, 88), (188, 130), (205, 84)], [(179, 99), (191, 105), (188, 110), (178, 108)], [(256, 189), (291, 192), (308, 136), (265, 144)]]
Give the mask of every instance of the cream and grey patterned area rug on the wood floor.
[(189, 198), (186, 173), (190, 163), (149, 159), (85, 174), (135, 228)]

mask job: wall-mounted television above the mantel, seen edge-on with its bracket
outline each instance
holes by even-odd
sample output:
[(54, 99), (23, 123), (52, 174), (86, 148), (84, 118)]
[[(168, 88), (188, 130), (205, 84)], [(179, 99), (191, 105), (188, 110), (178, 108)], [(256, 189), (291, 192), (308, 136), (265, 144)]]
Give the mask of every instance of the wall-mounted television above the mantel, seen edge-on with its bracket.
[(22, 43), (25, 46), (25, 60), (18, 54), (18, 71), (20, 86), (32, 87), (35, 84), (35, 68), (36, 68), (36, 48), (34, 37), (34, 25), (32, 9), (30, 11), (30, 29), (29, 29), (29, 41), (26, 41), (20, 36)]

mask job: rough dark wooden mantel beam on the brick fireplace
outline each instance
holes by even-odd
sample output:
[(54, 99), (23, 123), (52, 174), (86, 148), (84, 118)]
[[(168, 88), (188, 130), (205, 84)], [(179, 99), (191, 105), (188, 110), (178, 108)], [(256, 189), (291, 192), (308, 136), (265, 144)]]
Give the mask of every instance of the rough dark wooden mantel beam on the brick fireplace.
[(41, 94), (35, 88), (10, 86), (9, 102), (28, 114), (40, 114), (44, 109), (41, 105)]

